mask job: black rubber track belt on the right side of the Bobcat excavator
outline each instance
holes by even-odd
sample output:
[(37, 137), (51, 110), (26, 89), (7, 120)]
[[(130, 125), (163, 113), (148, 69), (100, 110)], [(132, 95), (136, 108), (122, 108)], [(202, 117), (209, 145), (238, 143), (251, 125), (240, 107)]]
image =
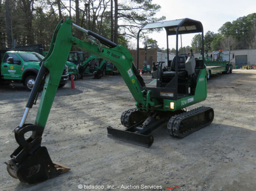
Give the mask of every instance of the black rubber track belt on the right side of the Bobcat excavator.
[[(185, 132), (180, 133), (179, 129), (180, 129), (180, 124), (182, 123), (183, 120), (186, 120), (190, 117), (199, 115), (201, 113), (207, 112), (209, 110), (212, 110), (212, 118), (204, 123), (202, 123), (201, 121), (198, 122), (196, 125), (194, 125), (193, 127), (189, 127)], [(214, 111), (211, 107), (198, 107), (196, 109), (190, 110), (188, 112), (183, 112), (181, 114), (177, 114), (171, 117), (171, 119), (168, 121), (167, 124), (167, 131), (168, 133), (173, 136), (173, 137), (177, 137), (177, 138), (183, 138), (185, 136), (190, 135), (191, 133), (202, 129), (203, 127), (209, 125), (212, 123), (214, 118)]]

